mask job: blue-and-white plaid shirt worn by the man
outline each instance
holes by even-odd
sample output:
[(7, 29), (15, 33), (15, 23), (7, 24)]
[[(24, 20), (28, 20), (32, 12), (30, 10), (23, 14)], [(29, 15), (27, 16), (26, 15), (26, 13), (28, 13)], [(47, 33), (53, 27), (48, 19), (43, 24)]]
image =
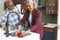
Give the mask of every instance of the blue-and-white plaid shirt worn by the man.
[(11, 11), (8, 8), (2, 14), (2, 26), (6, 26), (7, 17), (8, 17), (8, 25), (9, 26), (16, 26), (19, 22), (20, 16), (19, 10), (17, 7), (14, 6), (14, 9)]

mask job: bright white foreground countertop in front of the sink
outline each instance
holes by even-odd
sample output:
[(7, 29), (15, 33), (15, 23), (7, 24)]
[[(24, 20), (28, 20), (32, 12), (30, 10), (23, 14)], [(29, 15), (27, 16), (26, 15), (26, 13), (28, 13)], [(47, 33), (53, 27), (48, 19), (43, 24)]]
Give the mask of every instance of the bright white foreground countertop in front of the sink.
[(39, 34), (38, 33), (33, 33), (33, 32), (30, 32), (30, 35), (27, 35), (25, 37), (12, 37), (12, 36), (9, 36), (9, 37), (6, 37), (6, 35), (4, 35), (4, 31), (0, 28), (0, 40), (40, 40), (39, 39)]

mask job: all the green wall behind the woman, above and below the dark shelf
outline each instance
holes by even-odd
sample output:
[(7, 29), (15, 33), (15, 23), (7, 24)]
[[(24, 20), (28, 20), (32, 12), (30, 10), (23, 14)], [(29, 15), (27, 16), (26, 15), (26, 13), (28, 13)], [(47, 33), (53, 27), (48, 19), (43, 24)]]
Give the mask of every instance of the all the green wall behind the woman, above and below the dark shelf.
[[(46, 0), (40, 0), (40, 5), (45, 7)], [(43, 23), (57, 23), (57, 14), (46, 14), (46, 10), (42, 9)]]

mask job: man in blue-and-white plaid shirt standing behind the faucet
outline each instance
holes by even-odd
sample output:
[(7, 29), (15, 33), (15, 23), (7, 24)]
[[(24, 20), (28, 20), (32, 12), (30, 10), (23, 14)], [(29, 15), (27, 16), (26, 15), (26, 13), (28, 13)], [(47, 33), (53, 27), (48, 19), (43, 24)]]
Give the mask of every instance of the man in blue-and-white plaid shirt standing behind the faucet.
[(5, 9), (2, 14), (2, 28), (6, 30), (6, 24), (8, 23), (8, 26), (12, 27), (12, 29), (15, 29), (18, 26), (18, 22), (19, 22), (18, 18), (20, 18), (19, 10), (16, 6), (14, 6), (12, 0), (7, 0), (6, 6), (7, 9)]

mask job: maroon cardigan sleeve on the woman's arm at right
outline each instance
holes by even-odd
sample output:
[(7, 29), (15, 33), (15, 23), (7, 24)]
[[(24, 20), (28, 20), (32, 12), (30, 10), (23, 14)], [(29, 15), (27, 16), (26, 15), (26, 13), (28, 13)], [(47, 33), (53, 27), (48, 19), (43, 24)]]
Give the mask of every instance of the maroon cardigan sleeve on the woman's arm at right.
[(37, 11), (36, 14), (37, 14), (37, 17), (36, 17), (35, 24), (30, 28), (30, 31), (32, 32), (42, 25), (42, 22), (41, 22), (42, 13), (40, 11)]

